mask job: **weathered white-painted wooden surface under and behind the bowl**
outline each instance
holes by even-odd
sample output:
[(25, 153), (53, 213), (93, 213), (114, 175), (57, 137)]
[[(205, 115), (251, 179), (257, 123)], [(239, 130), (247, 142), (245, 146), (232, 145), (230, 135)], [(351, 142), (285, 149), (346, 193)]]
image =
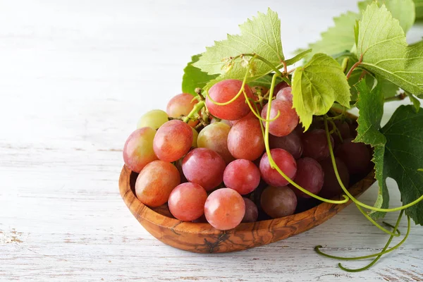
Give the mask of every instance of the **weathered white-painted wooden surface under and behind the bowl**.
[(362, 273), (314, 253), (381, 250), (387, 236), (353, 206), (294, 238), (200, 255), (154, 239), (121, 200), (121, 148), (140, 115), (180, 92), (192, 54), (268, 6), (289, 55), (356, 10), (347, 0), (0, 1), (0, 281), (423, 281), (419, 226)]

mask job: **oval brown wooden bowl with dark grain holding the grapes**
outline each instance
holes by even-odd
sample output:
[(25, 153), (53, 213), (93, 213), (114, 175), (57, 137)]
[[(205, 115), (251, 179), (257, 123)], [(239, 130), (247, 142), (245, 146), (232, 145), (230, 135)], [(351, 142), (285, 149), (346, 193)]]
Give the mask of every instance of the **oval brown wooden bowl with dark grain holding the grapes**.
[[(135, 180), (137, 173), (123, 166), (119, 178), (119, 190), (123, 201), (130, 212), (161, 242), (190, 252), (234, 252), (274, 243), (278, 240), (307, 231), (347, 207), (345, 204), (328, 204), (326, 202), (305, 212), (285, 216), (280, 219), (269, 219), (254, 223), (240, 223), (229, 231), (219, 231), (209, 223), (192, 223), (179, 221), (170, 217), (168, 209), (150, 209), (135, 196)], [(350, 193), (357, 197), (374, 183), (374, 171), (351, 186)], [(333, 200), (339, 200), (336, 197)], [(168, 214), (168, 216), (166, 216)]]

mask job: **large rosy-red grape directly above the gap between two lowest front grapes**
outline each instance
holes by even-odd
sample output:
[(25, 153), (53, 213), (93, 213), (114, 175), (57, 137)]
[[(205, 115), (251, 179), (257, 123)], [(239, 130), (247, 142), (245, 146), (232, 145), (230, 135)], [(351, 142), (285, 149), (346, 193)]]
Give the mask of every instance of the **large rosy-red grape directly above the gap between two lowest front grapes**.
[(209, 191), (223, 181), (225, 161), (211, 149), (196, 148), (183, 158), (182, 171), (188, 181)]

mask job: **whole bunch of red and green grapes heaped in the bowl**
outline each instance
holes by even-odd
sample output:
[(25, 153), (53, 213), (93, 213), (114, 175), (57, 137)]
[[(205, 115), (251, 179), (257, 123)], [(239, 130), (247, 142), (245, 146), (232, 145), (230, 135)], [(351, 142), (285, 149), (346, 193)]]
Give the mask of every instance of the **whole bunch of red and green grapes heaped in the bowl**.
[[(139, 173), (137, 198), (149, 207), (167, 204), (180, 221), (207, 221), (219, 230), (300, 210), (298, 205), (311, 196), (276, 171), (265, 152), (262, 125), (266, 125), (268, 94), (266, 87), (223, 80), (210, 88), (205, 102), (200, 96), (178, 94), (166, 112), (153, 110), (142, 116), (123, 149), (125, 165)], [(262, 109), (261, 119), (246, 97), (257, 111)], [(303, 133), (286, 82), (276, 85), (274, 97), (269, 109), (271, 159), (312, 194), (326, 198), (341, 194), (321, 118)], [(207, 110), (197, 111), (200, 102)], [(355, 127), (344, 117), (333, 116), (329, 123), (336, 166), (347, 188), (350, 175), (362, 176), (371, 163), (366, 145), (351, 142)]]

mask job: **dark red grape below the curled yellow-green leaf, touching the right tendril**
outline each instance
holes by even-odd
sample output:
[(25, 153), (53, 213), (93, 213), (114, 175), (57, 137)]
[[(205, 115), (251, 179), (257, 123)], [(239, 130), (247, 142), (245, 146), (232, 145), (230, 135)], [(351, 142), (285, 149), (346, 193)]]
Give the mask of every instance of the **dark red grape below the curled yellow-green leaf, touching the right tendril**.
[[(331, 137), (333, 148), (333, 138)], [(314, 129), (307, 131), (302, 135), (302, 156), (321, 161), (329, 157), (329, 145), (326, 139), (326, 131), (323, 129)]]

